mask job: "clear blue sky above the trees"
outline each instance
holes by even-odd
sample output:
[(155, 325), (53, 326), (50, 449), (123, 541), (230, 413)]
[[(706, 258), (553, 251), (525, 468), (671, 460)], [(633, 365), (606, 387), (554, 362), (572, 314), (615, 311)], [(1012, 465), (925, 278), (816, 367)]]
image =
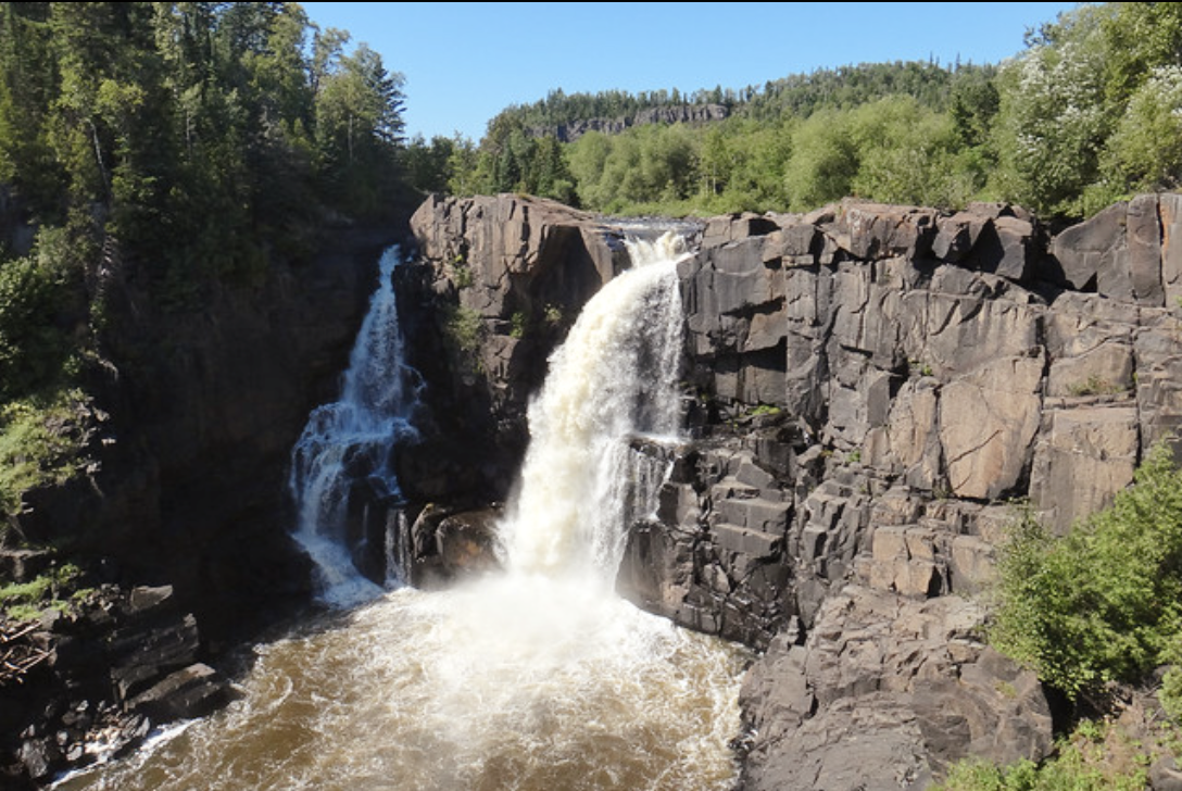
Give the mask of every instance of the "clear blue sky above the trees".
[(408, 135), (474, 142), (554, 90), (748, 85), (859, 63), (998, 64), (1074, 2), (304, 2), (404, 78)]

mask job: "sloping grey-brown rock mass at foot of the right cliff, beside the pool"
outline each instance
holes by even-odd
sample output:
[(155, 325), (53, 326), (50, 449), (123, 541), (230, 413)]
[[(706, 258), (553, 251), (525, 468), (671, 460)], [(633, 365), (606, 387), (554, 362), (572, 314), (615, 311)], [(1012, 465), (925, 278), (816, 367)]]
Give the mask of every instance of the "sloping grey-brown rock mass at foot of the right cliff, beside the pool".
[(748, 673), (745, 789), (922, 789), (969, 756), (1051, 750), (1032, 673), (980, 646), (980, 608), (851, 585), (801, 644), (777, 636)]

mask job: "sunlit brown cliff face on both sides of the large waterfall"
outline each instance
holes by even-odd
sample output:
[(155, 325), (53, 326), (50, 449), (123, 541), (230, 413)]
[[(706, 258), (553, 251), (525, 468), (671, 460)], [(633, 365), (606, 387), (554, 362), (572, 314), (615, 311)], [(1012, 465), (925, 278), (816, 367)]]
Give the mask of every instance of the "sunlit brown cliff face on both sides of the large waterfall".
[[(1047, 754), (1047, 701), (983, 643), (975, 597), (1009, 500), (1065, 532), (1182, 420), (1180, 201), (1139, 196), (1053, 238), (1009, 206), (857, 201), (695, 229), (687, 440), (618, 588), (762, 651), (745, 787), (923, 787), (965, 756)], [(422, 370), (462, 396), (452, 436), (512, 462), (565, 324), (515, 328), (548, 304), (573, 318), (619, 266), (619, 232), (499, 196), (431, 200), (415, 233), (421, 323), (453, 305), (478, 328), (472, 364), (431, 368), (447, 344), (428, 344)]]

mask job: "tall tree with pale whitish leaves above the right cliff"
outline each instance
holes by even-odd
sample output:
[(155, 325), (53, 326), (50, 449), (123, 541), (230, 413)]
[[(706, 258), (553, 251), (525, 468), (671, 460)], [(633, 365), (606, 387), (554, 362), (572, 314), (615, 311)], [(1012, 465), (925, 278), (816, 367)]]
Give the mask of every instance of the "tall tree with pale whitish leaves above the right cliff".
[(1001, 70), (994, 194), (1087, 216), (1182, 173), (1176, 4), (1082, 4)]

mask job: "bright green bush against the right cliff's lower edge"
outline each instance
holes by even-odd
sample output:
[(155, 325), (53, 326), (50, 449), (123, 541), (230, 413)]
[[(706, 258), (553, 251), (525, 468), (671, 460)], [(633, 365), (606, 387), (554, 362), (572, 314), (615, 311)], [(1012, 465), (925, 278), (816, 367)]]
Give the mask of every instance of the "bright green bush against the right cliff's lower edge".
[(1061, 538), (1024, 510), (999, 566), (992, 643), (1070, 698), (1167, 661), (1182, 633), (1182, 473), (1169, 446)]

